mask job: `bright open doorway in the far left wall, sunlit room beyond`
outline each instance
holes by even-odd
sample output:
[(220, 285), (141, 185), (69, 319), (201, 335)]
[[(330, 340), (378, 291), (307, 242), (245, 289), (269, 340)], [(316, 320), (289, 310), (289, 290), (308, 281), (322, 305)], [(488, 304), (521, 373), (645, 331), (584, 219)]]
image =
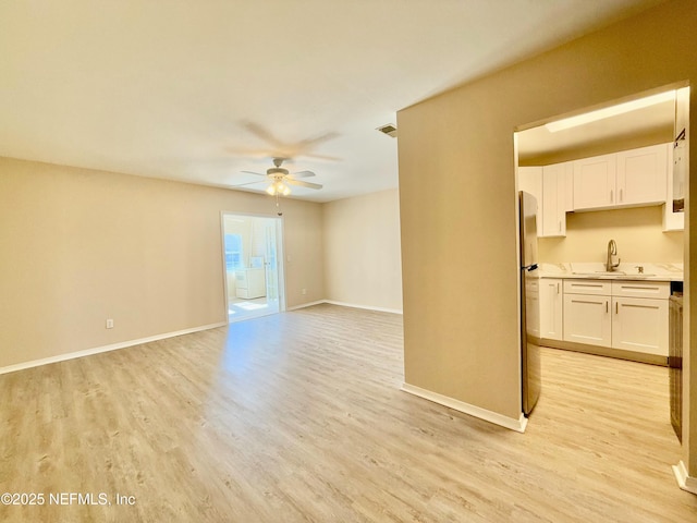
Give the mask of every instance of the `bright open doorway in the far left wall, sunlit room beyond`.
[(222, 212), (229, 323), (285, 309), (282, 234), (281, 218)]

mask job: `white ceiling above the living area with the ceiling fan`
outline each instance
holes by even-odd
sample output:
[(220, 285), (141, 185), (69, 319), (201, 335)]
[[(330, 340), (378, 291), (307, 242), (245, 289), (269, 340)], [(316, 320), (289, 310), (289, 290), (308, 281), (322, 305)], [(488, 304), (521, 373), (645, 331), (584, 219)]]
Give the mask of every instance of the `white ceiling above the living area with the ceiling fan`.
[(225, 187), (285, 156), (325, 186), (303, 199), (396, 187), (375, 129), (399, 109), (657, 3), (2, 1), (0, 156)]

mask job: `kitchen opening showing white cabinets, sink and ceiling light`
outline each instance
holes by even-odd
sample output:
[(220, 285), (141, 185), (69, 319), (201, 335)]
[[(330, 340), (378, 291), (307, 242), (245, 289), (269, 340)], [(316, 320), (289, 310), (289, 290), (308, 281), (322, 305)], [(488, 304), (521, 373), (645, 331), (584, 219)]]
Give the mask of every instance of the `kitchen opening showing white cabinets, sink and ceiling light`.
[(688, 86), (668, 86), (514, 136), (516, 187), (538, 203), (540, 279), (525, 290), (539, 321), (529, 335), (543, 346), (670, 365), (678, 438), (683, 355), (672, 351), (689, 318), (673, 307), (688, 270)]

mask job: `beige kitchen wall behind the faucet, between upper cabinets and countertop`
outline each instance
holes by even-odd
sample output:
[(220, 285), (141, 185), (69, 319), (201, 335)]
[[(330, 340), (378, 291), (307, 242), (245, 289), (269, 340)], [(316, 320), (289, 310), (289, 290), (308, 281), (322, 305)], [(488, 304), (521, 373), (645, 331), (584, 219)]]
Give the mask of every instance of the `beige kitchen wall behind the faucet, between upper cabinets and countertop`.
[(606, 262), (608, 241), (617, 243), (623, 263), (683, 263), (683, 232), (663, 232), (663, 207), (566, 214), (566, 238), (539, 239), (547, 263)]

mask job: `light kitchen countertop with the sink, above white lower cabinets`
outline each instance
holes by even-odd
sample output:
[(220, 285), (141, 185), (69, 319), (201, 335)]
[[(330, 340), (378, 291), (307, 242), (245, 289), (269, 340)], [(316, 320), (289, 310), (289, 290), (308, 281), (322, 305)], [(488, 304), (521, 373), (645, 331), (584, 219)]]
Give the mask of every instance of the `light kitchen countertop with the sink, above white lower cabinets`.
[[(637, 267), (644, 267), (644, 273)], [(683, 264), (621, 263), (613, 272), (607, 272), (604, 264), (594, 262), (539, 264), (539, 268), (540, 278), (683, 281)]]

